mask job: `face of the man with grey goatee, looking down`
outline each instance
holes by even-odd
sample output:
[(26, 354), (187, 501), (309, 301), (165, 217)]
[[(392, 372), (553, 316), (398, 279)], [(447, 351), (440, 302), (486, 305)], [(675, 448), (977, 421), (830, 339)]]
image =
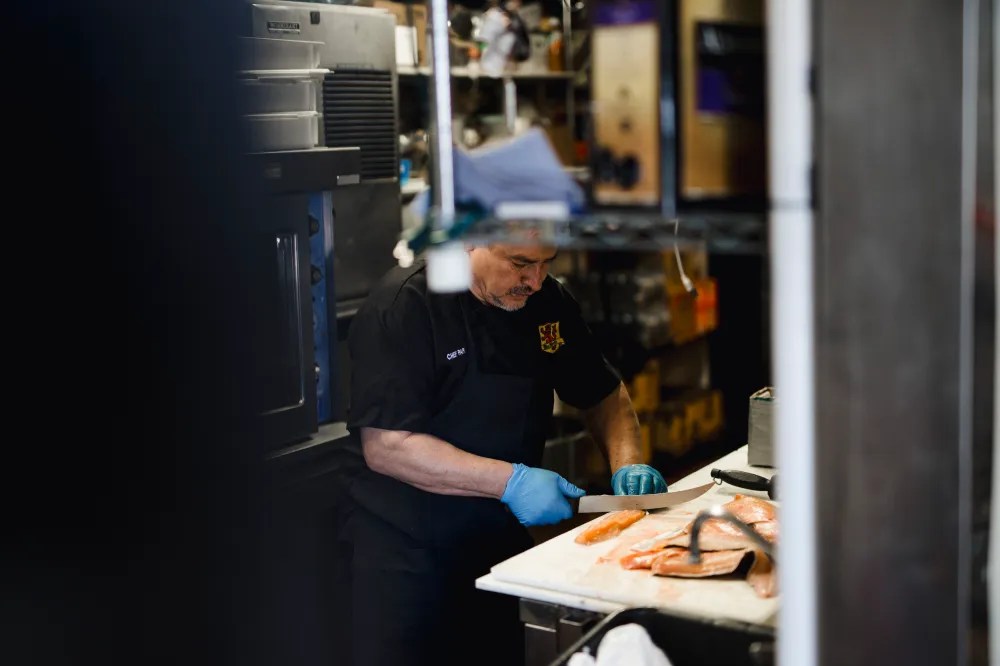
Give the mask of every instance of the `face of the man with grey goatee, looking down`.
[(469, 251), (472, 263), (472, 291), (480, 300), (513, 312), (542, 288), (549, 264), (555, 259), (553, 247), (491, 245)]

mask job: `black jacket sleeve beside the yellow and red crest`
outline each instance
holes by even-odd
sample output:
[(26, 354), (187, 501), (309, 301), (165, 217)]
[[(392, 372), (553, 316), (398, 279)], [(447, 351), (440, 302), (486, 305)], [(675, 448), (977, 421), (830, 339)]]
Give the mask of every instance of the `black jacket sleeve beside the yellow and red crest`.
[(618, 388), (621, 376), (601, 352), (580, 305), (560, 285), (560, 335), (565, 341), (555, 354), (556, 394), (577, 409), (589, 409)]

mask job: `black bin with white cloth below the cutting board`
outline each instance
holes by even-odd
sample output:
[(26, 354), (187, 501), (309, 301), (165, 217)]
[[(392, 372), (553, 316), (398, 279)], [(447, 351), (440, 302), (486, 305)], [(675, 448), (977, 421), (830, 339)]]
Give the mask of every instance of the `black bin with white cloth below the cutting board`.
[(773, 628), (668, 613), (658, 608), (626, 608), (611, 613), (550, 666), (565, 666), (585, 647), (596, 656), (604, 634), (629, 623), (642, 626), (672, 666), (774, 666)]

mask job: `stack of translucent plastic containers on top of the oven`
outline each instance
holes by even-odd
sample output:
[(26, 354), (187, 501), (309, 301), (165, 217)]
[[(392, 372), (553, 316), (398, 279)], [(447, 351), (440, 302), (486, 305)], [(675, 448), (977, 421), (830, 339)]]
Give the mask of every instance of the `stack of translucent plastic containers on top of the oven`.
[(322, 42), (241, 37), (240, 89), (253, 152), (319, 145)]

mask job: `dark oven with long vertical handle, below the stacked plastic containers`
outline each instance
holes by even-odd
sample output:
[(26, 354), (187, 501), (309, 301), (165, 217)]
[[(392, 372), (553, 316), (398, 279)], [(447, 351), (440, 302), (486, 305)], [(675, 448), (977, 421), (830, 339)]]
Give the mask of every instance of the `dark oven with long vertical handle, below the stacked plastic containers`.
[[(256, 376), (261, 382), (257, 428), (266, 448), (277, 450), (305, 440), (318, 430), (318, 393), (327, 398), (326, 411), (339, 406), (320, 377), (339, 370), (336, 359), (316, 353), (326, 335), (317, 336), (317, 303), (333, 294), (328, 265), (311, 255), (317, 236), (332, 233), (332, 206), (338, 190), (357, 182), (361, 153), (357, 148), (308, 148), (250, 155), (256, 186), (263, 197), (259, 227), (253, 234), (255, 270), (254, 319), (249, 322)], [(321, 203), (314, 206), (314, 198)], [(322, 241), (320, 244), (325, 245)], [(316, 282), (317, 273), (323, 279)], [(317, 294), (313, 289), (325, 288)]]

